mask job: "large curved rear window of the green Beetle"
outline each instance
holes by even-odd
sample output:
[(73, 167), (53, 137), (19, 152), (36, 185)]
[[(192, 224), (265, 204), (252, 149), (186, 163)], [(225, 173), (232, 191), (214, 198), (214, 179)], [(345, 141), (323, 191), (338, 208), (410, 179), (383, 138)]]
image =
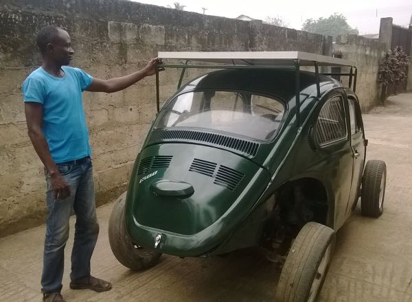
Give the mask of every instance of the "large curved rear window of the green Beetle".
[(161, 111), (155, 128), (203, 128), (268, 140), (283, 115), (284, 104), (273, 97), (243, 91), (195, 91), (175, 97)]

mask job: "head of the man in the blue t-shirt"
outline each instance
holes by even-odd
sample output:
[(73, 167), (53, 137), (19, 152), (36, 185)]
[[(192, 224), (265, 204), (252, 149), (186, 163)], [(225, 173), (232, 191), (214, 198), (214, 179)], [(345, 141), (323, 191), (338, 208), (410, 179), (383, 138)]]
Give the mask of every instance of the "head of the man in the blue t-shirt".
[(47, 56), (59, 65), (69, 65), (73, 54), (69, 34), (65, 30), (59, 30), (53, 43), (47, 45)]

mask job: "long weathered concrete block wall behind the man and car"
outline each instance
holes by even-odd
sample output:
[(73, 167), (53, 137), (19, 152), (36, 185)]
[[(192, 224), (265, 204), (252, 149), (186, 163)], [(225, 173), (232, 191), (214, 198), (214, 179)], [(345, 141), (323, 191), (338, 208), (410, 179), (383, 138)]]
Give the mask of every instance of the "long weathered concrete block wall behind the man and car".
[[(300, 50), (329, 54), (332, 40), (262, 21), (238, 21), (119, 0), (0, 2), (0, 236), (43, 222), (45, 179), (27, 137), (21, 83), (40, 64), (34, 38), (49, 24), (71, 34), (76, 60), (97, 78), (144, 67), (157, 51)], [(176, 71), (161, 76), (176, 87)], [(98, 205), (124, 191), (150, 121), (154, 78), (125, 91), (84, 93)], [(166, 93), (166, 94), (167, 94)]]

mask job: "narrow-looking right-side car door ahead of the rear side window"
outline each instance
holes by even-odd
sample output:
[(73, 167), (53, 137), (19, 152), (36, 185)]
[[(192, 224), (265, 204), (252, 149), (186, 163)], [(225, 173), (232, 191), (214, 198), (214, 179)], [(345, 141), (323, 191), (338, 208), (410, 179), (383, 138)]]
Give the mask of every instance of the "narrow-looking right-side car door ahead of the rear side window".
[(361, 187), (363, 166), (365, 164), (365, 135), (363, 133), (361, 108), (359, 107), (356, 95), (347, 94), (347, 104), (349, 107), (350, 117), (350, 139), (354, 156), (354, 167), (352, 176), (352, 186), (350, 191), (349, 204), (346, 209), (346, 214), (349, 216), (352, 213), (354, 204), (359, 197), (359, 189)]

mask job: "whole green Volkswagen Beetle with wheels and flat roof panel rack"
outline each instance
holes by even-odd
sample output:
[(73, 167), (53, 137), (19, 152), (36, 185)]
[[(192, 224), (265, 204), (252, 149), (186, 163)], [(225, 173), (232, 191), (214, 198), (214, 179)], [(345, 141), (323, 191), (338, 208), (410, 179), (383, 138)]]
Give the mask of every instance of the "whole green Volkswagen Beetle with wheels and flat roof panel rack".
[[(314, 301), (334, 234), (358, 199), (365, 216), (383, 211), (386, 166), (365, 164), (354, 62), (297, 51), (159, 58), (202, 65), (158, 65), (183, 69), (182, 77), (115, 202), (108, 229), (115, 257), (141, 270), (162, 253), (199, 257), (262, 246), (283, 266), (276, 301)], [(350, 71), (322, 74), (323, 66)], [(188, 68), (217, 70), (181, 86)], [(157, 99), (159, 108), (159, 73)]]

